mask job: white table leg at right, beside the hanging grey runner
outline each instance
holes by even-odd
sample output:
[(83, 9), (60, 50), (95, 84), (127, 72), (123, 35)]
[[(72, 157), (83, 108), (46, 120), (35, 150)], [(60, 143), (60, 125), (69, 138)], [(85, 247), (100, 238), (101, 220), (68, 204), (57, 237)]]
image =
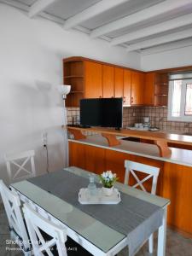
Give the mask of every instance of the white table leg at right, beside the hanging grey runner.
[(164, 209), (163, 224), (158, 230), (158, 247), (157, 247), (157, 256), (166, 255), (166, 214), (167, 207)]

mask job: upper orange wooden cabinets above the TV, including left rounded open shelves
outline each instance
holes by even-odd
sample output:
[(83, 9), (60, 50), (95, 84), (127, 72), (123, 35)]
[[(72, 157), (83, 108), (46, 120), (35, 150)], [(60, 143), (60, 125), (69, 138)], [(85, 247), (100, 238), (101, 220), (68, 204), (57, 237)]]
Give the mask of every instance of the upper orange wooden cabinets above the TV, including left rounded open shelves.
[[(63, 60), (63, 83), (71, 84), (67, 107), (79, 107), (83, 98), (123, 97), (124, 106), (150, 105), (144, 94), (144, 73), (83, 57)], [(152, 88), (153, 86), (151, 86)], [(147, 96), (147, 99), (145, 99)]]

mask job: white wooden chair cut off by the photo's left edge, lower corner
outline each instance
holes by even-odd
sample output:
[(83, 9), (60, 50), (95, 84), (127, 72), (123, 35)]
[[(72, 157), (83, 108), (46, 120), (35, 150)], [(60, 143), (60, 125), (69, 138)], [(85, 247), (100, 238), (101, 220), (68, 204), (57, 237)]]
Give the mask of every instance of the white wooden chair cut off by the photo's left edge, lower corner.
[(14, 239), (25, 255), (31, 255), (31, 246), (26, 232), (26, 225), (20, 210), (20, 198), (15, 192), (9, 190), (0, 180), (0, 192), (3, 205), (9, 220), (11, 238)]

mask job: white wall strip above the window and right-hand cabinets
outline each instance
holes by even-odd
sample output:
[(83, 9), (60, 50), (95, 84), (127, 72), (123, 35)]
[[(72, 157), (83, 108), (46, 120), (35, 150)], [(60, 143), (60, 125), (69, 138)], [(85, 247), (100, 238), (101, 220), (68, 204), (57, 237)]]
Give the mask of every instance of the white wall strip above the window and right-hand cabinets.
[(164, 69), (169, 67), (184, 67), (192, 65), (192, 46), (159, 52), (141, 57), (143, 71)]

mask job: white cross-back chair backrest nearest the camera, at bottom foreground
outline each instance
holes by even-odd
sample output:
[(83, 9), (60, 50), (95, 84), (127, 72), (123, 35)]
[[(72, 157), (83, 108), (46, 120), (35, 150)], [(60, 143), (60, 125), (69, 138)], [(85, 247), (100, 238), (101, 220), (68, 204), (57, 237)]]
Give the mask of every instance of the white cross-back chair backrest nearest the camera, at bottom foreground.
[[(23, 212), (34, 254), (44, 255), (43, 253), (47, 253), (49, 256), (54, 256), (52, 248), (56, 246), (59, 256), (67, 256), (65, 247), (67, 231), (42, 217), (26, 203), (24, 204)], [(44, 237), (44, 233), (49, 236), (49, 240)]]

